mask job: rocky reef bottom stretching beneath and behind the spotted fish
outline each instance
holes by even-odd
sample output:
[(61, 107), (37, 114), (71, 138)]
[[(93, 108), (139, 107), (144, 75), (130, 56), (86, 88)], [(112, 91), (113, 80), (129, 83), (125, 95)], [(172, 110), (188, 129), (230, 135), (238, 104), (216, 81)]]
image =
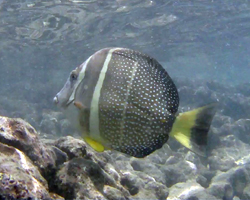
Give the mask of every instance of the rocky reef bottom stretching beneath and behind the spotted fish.
[(60, 112), (27, 117), (39, 132), (20, 118), (1, 116), (0, 199), (250, 199), (249, 84), (176, 83), (180, 112), (219, 104), (207, 157), (172, 139), (143, 159), (98, 153)]

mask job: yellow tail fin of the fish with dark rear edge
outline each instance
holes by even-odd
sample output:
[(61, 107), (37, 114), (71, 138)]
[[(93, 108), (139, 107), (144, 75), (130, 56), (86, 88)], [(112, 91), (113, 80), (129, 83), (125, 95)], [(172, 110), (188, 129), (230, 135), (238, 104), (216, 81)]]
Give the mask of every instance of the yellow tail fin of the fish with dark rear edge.
[(170, 136), (194, 153), (206, 156), (207, 135), (216, 111), (216, 103), (180, 113)]

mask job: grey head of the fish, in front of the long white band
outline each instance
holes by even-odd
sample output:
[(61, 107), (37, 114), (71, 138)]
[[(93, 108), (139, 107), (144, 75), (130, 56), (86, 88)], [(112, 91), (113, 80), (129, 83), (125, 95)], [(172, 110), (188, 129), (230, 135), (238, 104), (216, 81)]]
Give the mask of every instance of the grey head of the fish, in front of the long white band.
[(65, 109), (69, 105), (74, 105), (80, 110), (89, 109), (92, 93), (108, 52), (108, 48), (96, 52), (71, 71), (65, 85), (54, 97), (54, 103)]

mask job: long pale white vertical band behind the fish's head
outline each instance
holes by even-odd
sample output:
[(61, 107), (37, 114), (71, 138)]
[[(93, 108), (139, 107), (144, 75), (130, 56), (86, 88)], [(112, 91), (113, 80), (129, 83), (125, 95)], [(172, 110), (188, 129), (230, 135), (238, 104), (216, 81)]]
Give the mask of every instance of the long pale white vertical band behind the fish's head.
[(121, 48), (113, 48), (109, 50), (107, 57), (104, 61), (102, 70), (99, 74), (97, 84), (94, 89), (91, 106), (90, 106), (89, 129), (90, 129), (91, 138), (96, 139), (96, 140), (101, 140), (100, 129), (99, 129), (99, 99), (101, 95), (102, 85), (106, 76), (106, 72), (108, 70), (109, 62), (112, 58), (112, 53), (115, 50), (119, 50), (119, 49)]

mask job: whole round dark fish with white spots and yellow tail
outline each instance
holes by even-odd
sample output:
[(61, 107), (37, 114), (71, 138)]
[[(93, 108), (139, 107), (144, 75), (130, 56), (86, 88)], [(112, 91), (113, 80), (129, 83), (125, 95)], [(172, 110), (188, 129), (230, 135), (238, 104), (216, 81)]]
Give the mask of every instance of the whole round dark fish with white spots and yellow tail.
[(154, 58), (131, 49), (105, 48), (73, 70), (54, 103), (63, 107), (96, 151), (145, 157), (169, 135), (205, 155), (215, 114), (210, 104), (176, 115), (179, 96)]

